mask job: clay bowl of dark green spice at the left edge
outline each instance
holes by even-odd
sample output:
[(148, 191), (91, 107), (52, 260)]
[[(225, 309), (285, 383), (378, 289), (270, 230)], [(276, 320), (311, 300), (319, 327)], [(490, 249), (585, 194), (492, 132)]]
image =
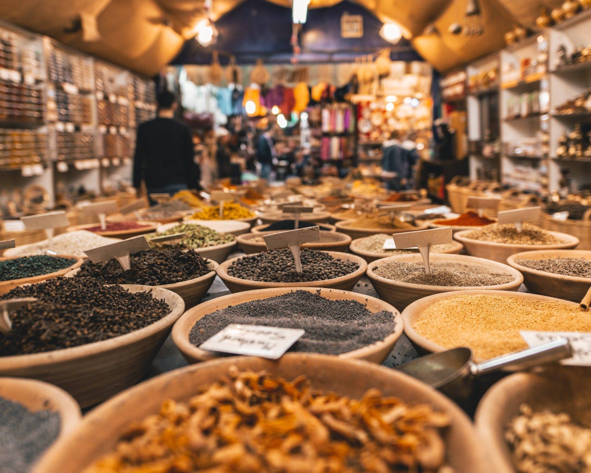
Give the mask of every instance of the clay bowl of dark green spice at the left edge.
[[(82, 261), (83, 258), (73, 255), (0, 257), (0, 279), (5, 275), (5, 277), (12, 277), (12, 279), (0, 281), (0, 296), (22, 284), (34, 284), (64, 276), (79, 267)], [(31, 274), (35, 276), (29, 276)]]

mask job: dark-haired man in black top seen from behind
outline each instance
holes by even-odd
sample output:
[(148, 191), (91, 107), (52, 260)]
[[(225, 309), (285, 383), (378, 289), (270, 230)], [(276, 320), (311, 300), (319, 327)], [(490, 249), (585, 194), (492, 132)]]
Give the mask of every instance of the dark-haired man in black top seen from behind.
[(158, 93), (158, 116), (139, 125), (134, 156), (134, 187), (141, 193), (173, 195), (183, 189), (200, 189), (200, 169), (194, 160), (193, 139), (187, 125), (176, 121), (176, 98)]

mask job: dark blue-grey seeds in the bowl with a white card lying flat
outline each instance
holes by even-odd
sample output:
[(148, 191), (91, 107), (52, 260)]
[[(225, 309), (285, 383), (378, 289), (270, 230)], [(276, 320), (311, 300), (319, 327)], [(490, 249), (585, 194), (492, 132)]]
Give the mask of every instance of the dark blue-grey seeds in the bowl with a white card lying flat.
[(304, 329), (290, 351), (329, 355), (363, 348), (394, 331), (391, 312), (370, 312), (351, 300), (331, 300), (308, 291), (294, 291), (216, 310), (197, 320), (189, 333), (199, 346), (232, 323)]

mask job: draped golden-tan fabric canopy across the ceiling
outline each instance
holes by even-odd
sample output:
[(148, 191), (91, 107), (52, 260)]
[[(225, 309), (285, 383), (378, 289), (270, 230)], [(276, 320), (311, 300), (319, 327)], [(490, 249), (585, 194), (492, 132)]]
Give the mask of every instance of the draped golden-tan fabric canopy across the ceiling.
[[(243, 0), (213, 0), (219, 18)], [(290, 7), (291, 0), (269, 0)], [(401, 25), (418, 53), (445, 71), (503, 46), (515, 24), (535, 28), (541, 7), (561, 0), (480, 0), (484, 34), (452, 35), (462, 22), (467, 0), (353, 0), (381, 21)], [(339, 0), (311, 0), (310, 8), (332, 7)], [(139, 73), (152, 75), (170, 62), (194, 35), (203, 18), (203, 0), (2, 0), (0, 19), (56, 38)], [(245, 28), (256, 28), (244, 25)], [(265, 25), (259, 25), (264, 28)], [(427, 28), (430, 27), (430, 28)], [(290, 29), (288, 25), (285, 28)], [(426, 34), (425, 31), (429, 34)]]

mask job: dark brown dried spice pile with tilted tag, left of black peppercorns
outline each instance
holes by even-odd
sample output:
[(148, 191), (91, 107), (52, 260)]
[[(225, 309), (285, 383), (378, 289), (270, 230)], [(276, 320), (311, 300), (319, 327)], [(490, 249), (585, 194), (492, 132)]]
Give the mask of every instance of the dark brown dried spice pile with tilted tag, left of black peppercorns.
[(102, 263), (87, 261), (76, 277), (91, 277), (103, 284), (161, 284), (180, 283), (209, 273), (207, 261), (194, 251), (179, 248), (142, 250), (129, 255), (129, 270), (117, 260)]

